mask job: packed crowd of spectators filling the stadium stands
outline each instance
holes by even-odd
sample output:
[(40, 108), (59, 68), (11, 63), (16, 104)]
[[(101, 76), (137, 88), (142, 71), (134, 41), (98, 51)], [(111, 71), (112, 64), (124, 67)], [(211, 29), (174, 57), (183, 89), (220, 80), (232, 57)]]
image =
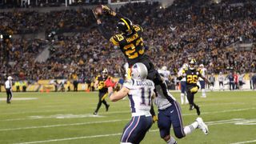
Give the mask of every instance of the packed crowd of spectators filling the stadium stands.
[[(256, 47), (235, 50), (231, 44), (254, 42), (256, 5), (252, 1), (236, 2), (239, 1), (183, 6), (186, 2), (177, 0), (168, 8), (159, 8), (158, 3), (134, 3), (120, 7), (118, 12), (144, 28), (147, 53), (158, 68), (167, 66), (175, 74), (188, 57), (194, 57), (209, 73), (222, 71), (227, 74), (230, 69), (240, 74), (255, 73)], [(8, 62), (15, 65), (8, 65), (1, 54), (1, 65), (5, 66), (1, 68), (2, 78), (6, 76), (4, 74), (12, 74), (14, 78), (38, 80), (70, 78), (76, 74), (84, 82), (85, 78), (93, 78), (103, 68), (112, 75), (124, 74), (126, 61), (122, 53), (95, 29), (90, 10), (14, 11), (2, 15), (7, 21), (0, 24), (1, 30), (11, 34), (57, 31), (54, 41), (47, 41), (50, 58), (46, 62), (34, 62), (44, 48), (38, 44), (39, 40), (32, 39), (31, 46), (24, 46), (27, 40), (13, 40), (6, 47), (10, 50)], [(103, 21), (113, 34), (116, 19), (103, 18)], [(58, 34), (62, 31), (75, 33), (70, 36)], [(3, 42), (1, 46), (3, 49)]]

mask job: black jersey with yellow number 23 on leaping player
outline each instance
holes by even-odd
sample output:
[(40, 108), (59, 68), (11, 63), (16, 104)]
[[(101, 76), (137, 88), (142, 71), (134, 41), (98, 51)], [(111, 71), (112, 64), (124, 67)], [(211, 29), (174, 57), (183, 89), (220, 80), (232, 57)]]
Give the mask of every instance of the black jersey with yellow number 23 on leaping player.
[(110, 38), (115, 46), (119, 46), (122, 53), (125, 54), (128, 63), (133, 63), (137, 61), (138, 58), (144, 56), (144, 43), (142, 39), (143, 29), (141, 26), (134, 25), (134, 32), (130, 35), (125, 34), (115, 34)]

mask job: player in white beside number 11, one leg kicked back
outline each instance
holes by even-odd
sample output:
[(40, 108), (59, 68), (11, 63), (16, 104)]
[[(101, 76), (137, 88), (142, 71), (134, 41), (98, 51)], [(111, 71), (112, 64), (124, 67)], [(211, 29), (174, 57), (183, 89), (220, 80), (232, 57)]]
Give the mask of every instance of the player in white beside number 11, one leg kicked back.
[(204, 134), (208, 134), (209, 130), (202, 118), (197, 118), (195, 122), (189, 126), (182, 124), (182, 111), (178, 102), (170, 103), (162, 94), (160, 86), (156, 86), (157, 97), (154, 103), (158, 106), (158, 128), (160, 136), (167, 144), (176, 144), (177, 142), (170, 136), (170, 126), (173, 125), (174, 134), (177, 138), (184, 138), (195, 129), (201, 129)]

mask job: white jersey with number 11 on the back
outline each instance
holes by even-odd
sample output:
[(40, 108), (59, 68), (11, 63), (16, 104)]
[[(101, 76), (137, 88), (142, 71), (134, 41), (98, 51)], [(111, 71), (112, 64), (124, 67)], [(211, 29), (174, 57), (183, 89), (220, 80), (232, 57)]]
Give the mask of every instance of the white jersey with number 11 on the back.
[(154, 94), (154, 82), (149, 79), (130, 79), (123, 86), (129, 89), (130, 109), (132, 116), (150, 116), (151, 98)]

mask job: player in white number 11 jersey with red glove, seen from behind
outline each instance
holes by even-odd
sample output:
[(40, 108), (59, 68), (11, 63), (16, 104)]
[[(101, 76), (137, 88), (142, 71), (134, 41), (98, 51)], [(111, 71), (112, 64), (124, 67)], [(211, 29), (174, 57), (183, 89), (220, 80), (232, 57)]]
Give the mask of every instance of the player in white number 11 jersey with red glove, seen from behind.
[(140, 143), (152, 126), (153, 119), (150, 108), (151, 98), (154, 97), (154, 82), (146, 79), (147, 74), (146, 66), (138, 62), (131, 68), (131, 79), (127, 80), (118, 92), (113, 93), (113, 82), (110, 80), (106, 82), (112, 102), (116, 102), (126, 95), (130, 99), (132, 118), (123, 130), (121, 143)]

